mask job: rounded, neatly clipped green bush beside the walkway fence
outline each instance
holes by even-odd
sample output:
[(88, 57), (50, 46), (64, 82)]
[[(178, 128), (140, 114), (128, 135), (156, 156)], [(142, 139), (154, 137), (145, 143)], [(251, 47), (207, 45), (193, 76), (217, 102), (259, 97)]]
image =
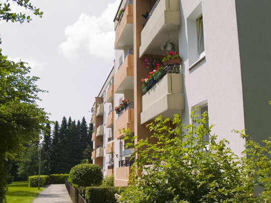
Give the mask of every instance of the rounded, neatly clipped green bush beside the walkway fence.
[(69, 175), (69, 182), (81, 187), (98, 186), (103, 180), (101, 169), (95, 164), (78, 164), (71, 168)]

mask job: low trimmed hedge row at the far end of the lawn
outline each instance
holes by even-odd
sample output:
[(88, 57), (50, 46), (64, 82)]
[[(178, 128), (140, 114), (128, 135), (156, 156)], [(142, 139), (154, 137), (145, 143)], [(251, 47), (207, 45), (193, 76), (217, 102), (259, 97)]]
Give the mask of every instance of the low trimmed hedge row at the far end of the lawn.
[[(42, 175), (40, 176), (39, 186), (42, 187), (48, 184), (64, 184), (64, 179), (67, 179), (68, 177), (69, 177), (69, 174), (52, 174), (49, 176)], [(38, 176), (29, 176), (28, 186), (38, 187)]]

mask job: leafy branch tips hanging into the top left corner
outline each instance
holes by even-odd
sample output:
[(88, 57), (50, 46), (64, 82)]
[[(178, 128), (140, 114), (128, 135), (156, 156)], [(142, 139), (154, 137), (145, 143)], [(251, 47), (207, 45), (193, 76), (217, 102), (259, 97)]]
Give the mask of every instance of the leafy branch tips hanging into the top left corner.
[[(11, 1), (11, 0), (6, 0)], [(31, 10), (34, 15), (38, 15), (39, 17), (42, 17), (43, 12), (39, 11), (39, 8), (36, 8), (31, 4), (29, 0), (12, 0), (13, 3), (16, 3), (18, 6), (24, 7), (25, 9)], [(16, 13), (12, 12), (10, 9), (10, 4), (9, 3), (0, 3), (0, 20), (5, 20), (8, 21), (10, 20), (11, 22), (24, 22), (25, 20), (27, 22), (30, 22), (31, 17), (25, 16), (23, 13)]]

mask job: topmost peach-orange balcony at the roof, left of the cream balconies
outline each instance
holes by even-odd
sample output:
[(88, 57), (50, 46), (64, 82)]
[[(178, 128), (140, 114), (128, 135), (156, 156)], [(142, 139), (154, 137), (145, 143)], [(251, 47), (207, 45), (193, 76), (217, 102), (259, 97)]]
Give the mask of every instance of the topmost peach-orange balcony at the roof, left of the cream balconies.
[(124, 46), (132, 46), (133, 39), (133, 2), (128, 1), (125, 11), (122, 13), (119, 21), (115, 20), (115, 49), (123, 49)]

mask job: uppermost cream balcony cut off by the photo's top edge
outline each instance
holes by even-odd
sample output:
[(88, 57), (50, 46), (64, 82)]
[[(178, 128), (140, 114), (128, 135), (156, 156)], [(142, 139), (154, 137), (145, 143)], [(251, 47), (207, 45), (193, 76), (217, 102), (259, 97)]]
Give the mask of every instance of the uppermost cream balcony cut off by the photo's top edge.
[(162, 55), (160, 46), (169, 37), (178, 44), (180, 25), (180, 0), (157, 0), (141, 31), (139, 57), (143, 54)]

